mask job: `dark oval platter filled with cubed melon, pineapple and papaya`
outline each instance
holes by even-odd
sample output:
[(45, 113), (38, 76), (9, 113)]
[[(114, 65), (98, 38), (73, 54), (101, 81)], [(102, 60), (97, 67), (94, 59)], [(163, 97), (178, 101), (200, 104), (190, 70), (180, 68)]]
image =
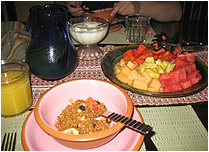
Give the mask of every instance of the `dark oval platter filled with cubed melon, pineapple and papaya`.
[(193, 53), (129, 45), (107, 53), (102, 70), (113, 83), (140, 95), (185, 97), (208, 85), (208, 67)]

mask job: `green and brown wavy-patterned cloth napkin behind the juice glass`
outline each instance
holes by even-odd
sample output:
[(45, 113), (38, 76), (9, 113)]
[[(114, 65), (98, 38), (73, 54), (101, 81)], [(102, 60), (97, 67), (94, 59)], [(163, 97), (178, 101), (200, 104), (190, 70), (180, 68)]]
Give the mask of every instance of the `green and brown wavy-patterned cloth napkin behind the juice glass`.
[(1, 59), (25, 60), (31, 34), (20, 21), (1, 22)]

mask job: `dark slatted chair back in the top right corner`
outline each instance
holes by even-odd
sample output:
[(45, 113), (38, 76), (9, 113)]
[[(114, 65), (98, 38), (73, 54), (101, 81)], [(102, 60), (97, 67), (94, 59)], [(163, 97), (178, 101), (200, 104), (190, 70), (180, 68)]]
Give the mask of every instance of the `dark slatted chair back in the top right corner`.
[(208, 44), (208, 1), (182, 1), (180, 38), (183, 45)]

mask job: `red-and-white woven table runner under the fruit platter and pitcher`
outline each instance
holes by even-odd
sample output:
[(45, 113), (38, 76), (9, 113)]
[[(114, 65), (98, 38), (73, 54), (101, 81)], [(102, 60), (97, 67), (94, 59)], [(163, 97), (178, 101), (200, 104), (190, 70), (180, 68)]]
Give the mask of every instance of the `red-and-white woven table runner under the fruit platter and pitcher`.
[[(104, 50), (105, 54), (118, 46), (108, 45), (105, 47), (100, 47)], [(208, 53), (207, 47), (205, 47), (205, 51), (195, 52), (195, 55), (202, 59), (206, 64), (208, 61)], [(102, 59), (101, 59), (102, 60)], [(60, 84), (62, 82), (74, 79), (82, 79), (82, 78), (94, 78), (110, 81), (103, 73), (101, 69), (101, 60), (95, 61), (79, 61), (78, 67), (75, 71), (69, 76), (58, 80), (58, 81), (44, 81), (34, 75), (31, 75), (31, 83), (32, 83), (32, 91), (33, 91), (33, 106), (39, 99), (39, 97), (49, 88)], [(130, 95), (134, 105), (172, 105), (172, 104), (190, 104), (196, 102), (204, 102), (208, 100), (208, 87), (202, 90), (199, 93), (196, 93), (187, 97), (180, 98), (156, 98), (156, 97), (148, 97), (141, 96), (137, 93), (130, 92), (126, 90)]]

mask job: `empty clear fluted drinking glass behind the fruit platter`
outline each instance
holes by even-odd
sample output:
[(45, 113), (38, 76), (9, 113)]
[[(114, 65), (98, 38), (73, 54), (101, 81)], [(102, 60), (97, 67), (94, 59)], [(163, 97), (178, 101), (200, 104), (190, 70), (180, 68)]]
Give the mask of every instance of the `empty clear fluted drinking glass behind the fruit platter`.
[(126, 17), (126, 40), (135, 44), (146, 42), (150, 18), (142, 14), (128, 15)]

